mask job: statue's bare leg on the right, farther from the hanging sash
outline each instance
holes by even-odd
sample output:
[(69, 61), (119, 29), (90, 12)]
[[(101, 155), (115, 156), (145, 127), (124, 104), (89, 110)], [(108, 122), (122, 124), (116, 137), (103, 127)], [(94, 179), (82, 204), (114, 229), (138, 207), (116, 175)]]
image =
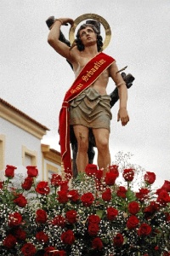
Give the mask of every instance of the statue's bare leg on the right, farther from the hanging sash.
[(96, 147), (98, 148), (98, 166), (99, 169), (104, 168), (104, 174), (107, 172), (108, 166), (111, 166), (111, 154), (109, 150), (109, 135), (107, 129), (93, 129)]

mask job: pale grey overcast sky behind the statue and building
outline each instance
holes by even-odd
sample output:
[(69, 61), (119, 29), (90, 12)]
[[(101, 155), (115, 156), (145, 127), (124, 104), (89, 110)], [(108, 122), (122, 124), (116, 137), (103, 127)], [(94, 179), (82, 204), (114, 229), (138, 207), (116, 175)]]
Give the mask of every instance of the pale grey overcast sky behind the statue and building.
[[(101, 15), (111, 26), (105, 53), (135, 77), (128, 90), (130, 122), (116, 122), (112, 108), (111, 160), (133, 154), (132, 163), (170, 179), (170, 1), (169, 0), (1, 0), (0, 97), (46, 125), (42, 140), (59, 150), (59, 109), (74, 74), (47, 43), (48, 16)], [(70, 27), (62, 26), (68, 38)], [(105, 39), (105, 35), (103, 35)], [(115, 89), (110, 81), (108, 93)]]

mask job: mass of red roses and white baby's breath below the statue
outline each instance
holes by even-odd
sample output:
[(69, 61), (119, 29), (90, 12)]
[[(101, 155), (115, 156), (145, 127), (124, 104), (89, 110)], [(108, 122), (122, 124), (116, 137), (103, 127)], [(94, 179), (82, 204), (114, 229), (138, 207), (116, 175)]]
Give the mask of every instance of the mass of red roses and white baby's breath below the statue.
[(46, 182), (27, 166), (16, 184), (15, 169), (0, 182), (1, 255), (170, 255), (170, 181), (154, 189), (154, 172), (123, 163), (104, 176), (89, 164), (77, 178)]

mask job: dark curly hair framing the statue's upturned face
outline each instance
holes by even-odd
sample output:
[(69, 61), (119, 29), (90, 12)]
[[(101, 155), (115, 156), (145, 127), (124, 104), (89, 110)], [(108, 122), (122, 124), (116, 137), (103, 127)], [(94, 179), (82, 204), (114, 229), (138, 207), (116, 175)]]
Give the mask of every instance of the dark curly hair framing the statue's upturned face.
[(77, 44), (77, 49), (82, 51), (84, 49), (84, 45), (82, 44), (82, 41), (80, 39), (80, 31), (84, 28), (86, 28), (87, 26), (92, 27), (92, 29), (94, 30), (94, 33), (96, 33), (97, 35), (97, 48), (98, 51), (100, 51), (100, 49), (103, 46), (103, 38), (100, 36), (99, 31), (97, 30), (97, 28), (92, 25), (92, 24), (82, 24), (82, 26), (80, 26), (80, 28), (77, 31), (77, 38), (75, 40), (76, 44)]

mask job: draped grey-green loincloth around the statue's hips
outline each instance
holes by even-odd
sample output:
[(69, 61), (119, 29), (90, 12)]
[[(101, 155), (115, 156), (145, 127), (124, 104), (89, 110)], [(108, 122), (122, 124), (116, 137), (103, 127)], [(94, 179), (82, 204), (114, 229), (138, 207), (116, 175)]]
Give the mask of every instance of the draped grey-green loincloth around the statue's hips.
[(71, 102), (70, 125), (83, 125), (88, 128), (105, 128), (110, 131), (111, 97), (100, 95), (89, 87)]

